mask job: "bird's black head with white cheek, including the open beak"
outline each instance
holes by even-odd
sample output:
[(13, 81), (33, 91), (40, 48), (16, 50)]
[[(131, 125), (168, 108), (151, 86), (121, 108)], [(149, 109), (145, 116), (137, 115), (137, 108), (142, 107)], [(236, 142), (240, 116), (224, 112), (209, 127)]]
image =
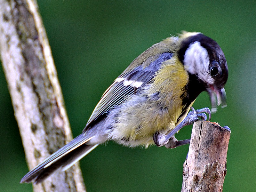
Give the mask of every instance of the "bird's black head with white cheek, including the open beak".
[[(212, 109), (217, 105), (226, 107), (224, 85), (228, 79), (228, 66), (220, 46), (210, 37), (202, 33), (183, 32), (179, 38), (178, 57), (183, 63), (189, 78), (196, 80), (201, 91), (209, 93)], [(217, 100), (216, 100), (217, 97)]]

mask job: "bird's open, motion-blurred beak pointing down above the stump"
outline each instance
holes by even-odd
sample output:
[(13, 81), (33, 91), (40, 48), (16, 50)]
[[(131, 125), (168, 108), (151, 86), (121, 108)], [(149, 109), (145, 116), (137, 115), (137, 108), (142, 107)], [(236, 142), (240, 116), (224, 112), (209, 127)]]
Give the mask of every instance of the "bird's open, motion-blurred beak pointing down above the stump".
[(227, 95), (224, 87), (218, 89), (217, 87), (210, 85), (207, 88), (207, 92), (209, 93), (211, 103), (212, 103), (212, 108), (211, 108), (212, 113), (215, 113), (217, 111), (217, 105), (220, 106), (221, 104), (221, 108), (227, 107), (227, 102), (226, 102)]

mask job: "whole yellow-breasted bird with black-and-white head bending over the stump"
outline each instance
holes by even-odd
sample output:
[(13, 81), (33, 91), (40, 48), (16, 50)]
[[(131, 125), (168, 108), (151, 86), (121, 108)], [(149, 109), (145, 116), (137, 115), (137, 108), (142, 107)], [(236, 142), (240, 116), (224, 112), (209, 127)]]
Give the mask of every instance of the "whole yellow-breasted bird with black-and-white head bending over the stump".
[[(40, 183), (54, 171), (67, 170), (108, 140), (148, 148), (188, 144), (174, 134), (217, 105), (226, 107), (228, 66), (219, 44), (199, 32), (182, 31), (141, 53), (103, 93), (82, 134), (28, 172), (21, 183)], [(192, 108), (207, 91), (211, 110)], [(190, 108), (192, 111), (189, 112)], [(205, 114), (206, 113), (206, 114)]]

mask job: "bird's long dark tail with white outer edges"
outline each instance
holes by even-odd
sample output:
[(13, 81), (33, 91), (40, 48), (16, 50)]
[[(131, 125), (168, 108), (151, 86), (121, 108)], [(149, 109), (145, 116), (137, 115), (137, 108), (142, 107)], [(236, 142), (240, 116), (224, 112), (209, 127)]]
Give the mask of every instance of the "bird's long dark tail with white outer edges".
[(40, 183), (57, 169), (67, 170), (99, 145), (87, 145), (86, 143), (92, 138), (86, 138), (84, 134), (77, 136), (28, 172), (21, 179), (20, 183), (30, 183), (32, 181)]

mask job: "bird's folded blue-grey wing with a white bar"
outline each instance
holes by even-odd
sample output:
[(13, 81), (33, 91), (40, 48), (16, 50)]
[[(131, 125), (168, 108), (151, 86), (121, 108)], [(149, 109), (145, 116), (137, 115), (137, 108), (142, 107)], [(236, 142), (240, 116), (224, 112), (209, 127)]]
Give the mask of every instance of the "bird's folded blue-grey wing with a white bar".
[(84, 131), (104, 118), (110, 109), (119, 105), (132, 94), (136, 94), (136, 90), (146, 85), (154, 77), (154, 74), (160, 68), (161, 64), (171, 57), (172, 53), (164, 52), (159, 54), (154, 61), (151, 61), (147, 67), (140, 65), (132, 70), (124, 71), (103, 93)]

